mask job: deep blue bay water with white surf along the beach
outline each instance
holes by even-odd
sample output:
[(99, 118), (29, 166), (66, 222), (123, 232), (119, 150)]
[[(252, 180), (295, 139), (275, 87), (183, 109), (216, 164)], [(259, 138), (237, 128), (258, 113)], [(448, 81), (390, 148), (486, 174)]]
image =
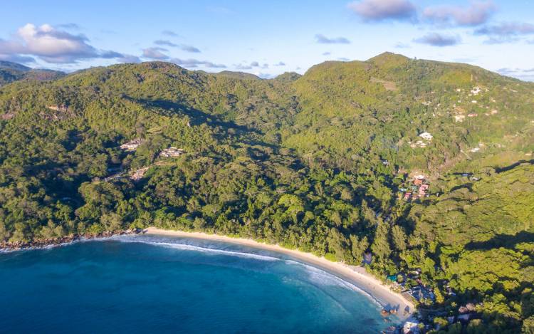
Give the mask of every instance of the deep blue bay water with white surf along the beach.
[(379, 333), (380, 306), (290, 257), (122, 236), (0, 254), (1, 333)]

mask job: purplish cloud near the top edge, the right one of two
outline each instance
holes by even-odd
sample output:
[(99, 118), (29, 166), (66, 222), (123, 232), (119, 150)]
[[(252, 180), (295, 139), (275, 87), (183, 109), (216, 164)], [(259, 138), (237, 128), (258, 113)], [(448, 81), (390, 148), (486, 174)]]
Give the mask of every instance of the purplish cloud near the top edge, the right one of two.
[(495, 10), (493, 1), (472, 1), (468, 7), (450, 5), (427, 7), (423, 11), (423, 16), (434, 24), (479, 26), (485, 24)]

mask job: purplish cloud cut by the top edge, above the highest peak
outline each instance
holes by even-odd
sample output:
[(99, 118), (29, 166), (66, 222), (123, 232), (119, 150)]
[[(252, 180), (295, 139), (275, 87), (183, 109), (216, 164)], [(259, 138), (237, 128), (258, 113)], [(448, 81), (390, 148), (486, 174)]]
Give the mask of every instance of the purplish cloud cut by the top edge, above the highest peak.
[(361, 0), (348, 4), (364, 21), (414, 21), (417, 9), (408, 0)]

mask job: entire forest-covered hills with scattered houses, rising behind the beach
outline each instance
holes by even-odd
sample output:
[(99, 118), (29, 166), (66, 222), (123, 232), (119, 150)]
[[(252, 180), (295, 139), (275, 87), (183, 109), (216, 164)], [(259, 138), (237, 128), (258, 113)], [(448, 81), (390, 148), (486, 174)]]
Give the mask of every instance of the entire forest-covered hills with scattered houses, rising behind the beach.
[(269, 80), (162, 62), (16, 80), (0, 241), (159, 226), (370, 251), (379, 276), (421, 269), (406, 287), (434, 290), (437, 323), (474, 302), (469, 330), (514, 333), (534, 323), (533, 93), (392, 53)]

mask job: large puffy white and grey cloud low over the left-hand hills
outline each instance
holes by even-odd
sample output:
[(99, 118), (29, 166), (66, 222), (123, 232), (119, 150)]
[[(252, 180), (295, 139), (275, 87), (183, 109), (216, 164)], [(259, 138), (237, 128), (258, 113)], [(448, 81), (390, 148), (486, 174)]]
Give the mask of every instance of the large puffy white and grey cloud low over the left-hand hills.
[(37, 57), (48, 63), (76, 63), (92, 58), (119, 58), (115, 51), (104, 51), (89, 44), (82, 34), (72, 34), (49, 24), (26, 24), (9, 40), (0, 39), (0, 55), (6, 57)]

